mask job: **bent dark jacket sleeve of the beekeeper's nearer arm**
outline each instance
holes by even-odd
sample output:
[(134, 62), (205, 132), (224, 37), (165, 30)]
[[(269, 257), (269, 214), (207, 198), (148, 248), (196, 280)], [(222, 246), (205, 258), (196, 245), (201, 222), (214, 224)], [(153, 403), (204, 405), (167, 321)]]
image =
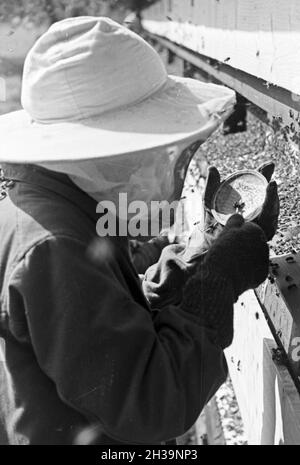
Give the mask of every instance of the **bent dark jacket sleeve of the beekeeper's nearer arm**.
[(114, 263), (96, 266), (76, 239), (35, 246), (12, 288), (58, 395), (116, 440), (149, 444), (183, 434), (226, 379), (213, 330), (179, 306), (154, 316), (120, 284)]

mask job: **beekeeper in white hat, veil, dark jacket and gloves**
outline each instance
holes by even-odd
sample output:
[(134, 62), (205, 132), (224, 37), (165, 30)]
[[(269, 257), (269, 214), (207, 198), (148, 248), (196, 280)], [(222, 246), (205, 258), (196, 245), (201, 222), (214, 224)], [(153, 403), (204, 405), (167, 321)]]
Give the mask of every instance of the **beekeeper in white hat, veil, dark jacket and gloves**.
[(120, 193), (129, 214), (180, 197), (234, 99), (168, 76), (107, 18), (63, 20), (35, 43), (24, 109), (0, 117), (2, 442), (72, 444), (88, 430), (95, 444), (160, 443), (224, 382), (233, 303), (267, 276), (263, 229), (234, 215), (204, 259), (197, 236), (191, 248), (161, 236), (141, 283), (121, 223), (106, 238), (96, 224)]

